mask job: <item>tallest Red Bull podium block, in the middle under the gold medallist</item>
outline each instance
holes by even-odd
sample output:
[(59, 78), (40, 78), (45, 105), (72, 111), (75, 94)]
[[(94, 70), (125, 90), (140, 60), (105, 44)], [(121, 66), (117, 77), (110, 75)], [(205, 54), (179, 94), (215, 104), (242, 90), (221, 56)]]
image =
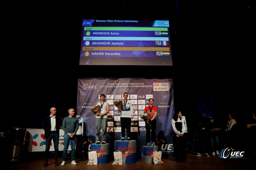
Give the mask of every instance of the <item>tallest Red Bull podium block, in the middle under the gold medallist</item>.
[(123, 165), (135, 164), (137, 162), (136, 149), (136, 140), (115, 141), (115, 152), (121, 151), (123, 153)]

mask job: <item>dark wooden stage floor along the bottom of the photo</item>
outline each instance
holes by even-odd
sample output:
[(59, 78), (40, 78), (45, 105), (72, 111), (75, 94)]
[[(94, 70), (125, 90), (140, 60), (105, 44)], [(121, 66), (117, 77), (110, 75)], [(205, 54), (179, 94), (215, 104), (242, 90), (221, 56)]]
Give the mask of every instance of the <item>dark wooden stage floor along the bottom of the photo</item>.
[[(61, 163), (61, 154), (59, 155), (59, 163)], [(179, 169), (179, 170), (187, 170), (187, 169), (207, 169), (207, 170), (244, 170), (244, 169), (255, 169), (255, 159), (249, 158), (239, 158), (239, 159), (222, 159), (218, 155), (213, 156), (210, 154), (210, 157), (206, 157), (205, 154), (197, 157), (196, 152), (188, 152), (187, 160), (185, 163), (178, 163), (175, 161), (174, 157), (162, 157), (162, 164), (149, 164), (144, 163), (143, 158), (137, 158), (137, 163), (128, 164), (128, 165), (112, 165), (113, 160), (109, 160), (107, 164), (100, 165), (87, 165), (88, 158), (77, 159), (77, 165), (71, 165), (70, 153), (67, 156), (67, 162), (65, 166), (54, 166), (54, 158), (53, 153), (51, 152), (50, 159), (48, 161), (49, 165), (44, 167), (44, 152), (28, 152), (24, 153), (24, 156), (20, 159), (20, 161), (6, 161), (4, 166), (7, 166), (8, 169), (19, 169), (19, 170), (34, 170), (34, 169), (86, 169), (86, 170), (102, 170), (102, 169), (117, 169), (117, 170), (132, 170), (132, 169), (140, 169), (140, 170), (161, 170), (161, 169)]]

